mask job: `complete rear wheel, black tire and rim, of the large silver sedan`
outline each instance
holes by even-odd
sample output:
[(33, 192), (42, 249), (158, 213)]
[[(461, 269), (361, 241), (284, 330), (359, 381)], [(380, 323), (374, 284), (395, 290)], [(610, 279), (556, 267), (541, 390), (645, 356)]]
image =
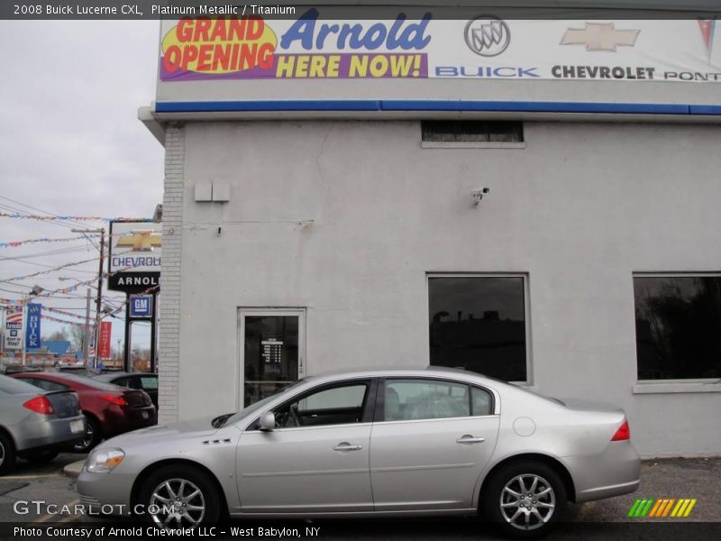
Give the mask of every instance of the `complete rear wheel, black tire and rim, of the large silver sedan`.
[[(523, 494), (524, 488), (525, 497), (516, 496)], [(492, 474), (482, 494), (482, 506), (486, 518), (501, 535), (534, 539), (552, 530), (566, 508), (567, 498), (561, 476), (552, 467), (520, 461)]]

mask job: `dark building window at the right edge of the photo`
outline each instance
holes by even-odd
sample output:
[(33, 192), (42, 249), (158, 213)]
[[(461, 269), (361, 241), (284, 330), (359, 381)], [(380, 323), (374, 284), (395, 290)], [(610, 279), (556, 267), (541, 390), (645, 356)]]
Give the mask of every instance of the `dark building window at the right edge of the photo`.
[(639, 380), (721, 378), (721, 277), (635, 276)]

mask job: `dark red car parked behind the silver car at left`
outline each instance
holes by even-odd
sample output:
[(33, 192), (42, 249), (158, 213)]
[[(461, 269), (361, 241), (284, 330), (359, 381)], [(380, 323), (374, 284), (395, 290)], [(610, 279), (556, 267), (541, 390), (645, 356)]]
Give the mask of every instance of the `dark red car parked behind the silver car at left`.
[(69, 389), (78, 393), (80, 408), (87, 419), (85, 438), (73, 446), (79, 452), (89, 451), (103, 438), (158, 422), (158, 412), (142, 390), (124, 389), (63, 372), (22, 372), (11, 377), (42, 390)]

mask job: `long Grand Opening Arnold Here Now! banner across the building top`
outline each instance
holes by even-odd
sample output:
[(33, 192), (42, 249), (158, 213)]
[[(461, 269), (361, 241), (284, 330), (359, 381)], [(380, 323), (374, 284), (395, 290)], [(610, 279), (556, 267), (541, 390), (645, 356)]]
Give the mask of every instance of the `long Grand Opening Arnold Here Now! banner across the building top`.
[(160, 86), (196, 81), (488, 79), (721, 83), (716, 20), (162, 21)]

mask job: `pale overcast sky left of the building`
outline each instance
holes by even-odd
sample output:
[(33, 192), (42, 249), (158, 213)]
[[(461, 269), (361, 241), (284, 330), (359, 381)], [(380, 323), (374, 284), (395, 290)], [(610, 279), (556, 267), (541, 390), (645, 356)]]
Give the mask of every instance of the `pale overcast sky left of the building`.
[[(155, 96), (159, 32), (158, 21), (0, 21), (0, 213), (152, 215), (162, 202), (163, 148), (137, 110)], [(82, 226), (107, 229), (102, 222), (0, 217), (0, 243), (79, 236), (70, 229)], [(91, 280), (97, 261), (9, 279), (97, 256), (85, 240), (0, 248), (0, 298), (22, 298), (34, 285), (50, 291)], [(95, 295), (93, 289), (91, 317)], [(85, 297), (83, 286), (41, 300), (84, 316)], [(104, 289), (104, 304), (123, 300)], [(112, 321), (116, 348), (123, 320)], [(43, 320), (42, 335), (61, 327)], [(142, 335), (148, 333), (135, 336)]]

